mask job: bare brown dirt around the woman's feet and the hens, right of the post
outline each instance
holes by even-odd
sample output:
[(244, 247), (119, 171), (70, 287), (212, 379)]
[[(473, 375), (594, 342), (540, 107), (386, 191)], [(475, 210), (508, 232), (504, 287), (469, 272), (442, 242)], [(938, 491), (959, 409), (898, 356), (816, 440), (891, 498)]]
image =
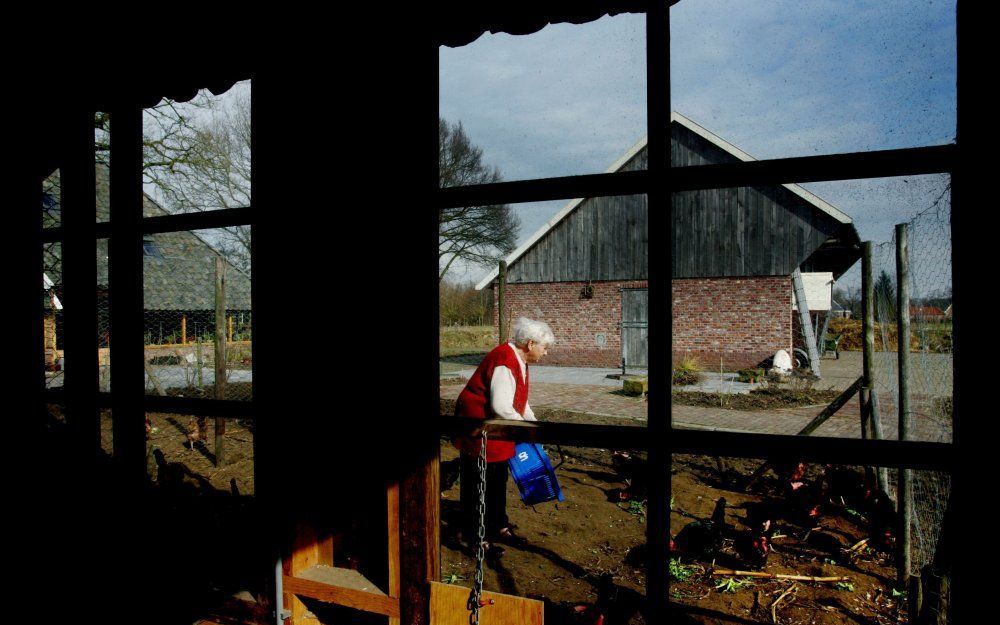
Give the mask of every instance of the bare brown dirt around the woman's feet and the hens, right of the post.
[[(558, 463), (554, 448), (550, 457)], [(645, 543), (645, 505), (636, 499), (621, 500), (625, 486), (611, 460), (611, 452), (600, 449), (563, 448), (565, 463), (557, 475), (566, 496), (562, 503), (534, 507), (520, 502), (511, 480), (508, 484), (508, 514), (517, 525), (523, 542), (506, 545), (498, 562), (484, 569), (486, 590), (544, 600), (548, 625), (592, 625), (605, 616), (604, 625), (643, 624), (641, 613), (645, 580), (642, 564)], [(471, 586), (475, 561), (455, 541), (459, 485), (448, 484), (454, 474), (457, 452), (448, 444), (441, 448), (442, 486), (442, 571), (444, 581)], [(757, 463), (732, 459), (726, 463), (726, 477), (738, 482)], [(813, 479), (819, 470), (810, 472)], [(809, 478), (807, 478), (809, 479)], [(860, 475), (858, 476), (860, 480)], [(672, 475), (673, 509), (671, 533), (676, 535), (694, 518), (711, 516), (715, 501), (726, 499), (727, 538), (717, 556), (717, 568), (747, 569), (733, 548), (745, 533), (747, 508), (773, 499), (780, 484), (768, 473), (752, 492), (720, 483), (715, 460), (678, 456)], [(857, 514), (855, 511), (851, 511)], [(863, 549), (848, 560), (831, 545), (852, 546), (867, 536), (867, 527), (843, 506), (830, 506), (816, 521), (823, 541), (803, 542), (809, 528), (778, 519), (774, 550), (765, 571), (808, 576), (846, 576), (839, 587), (832, 583), (790, 582), (758, 579), (724, 592), (716, 586), (730, 576), (711, 577), (711, 562), (679, 556), (681, 576), (672, 581), (671, 602), (678, 622), (687, 623), (771, 623), (769, 607), (783, 591), (795, 585), (776, 610), (779, 623), (834, 625), (839, 623), (905, 622), (905, 605), (893, 596), (895, 569), (884, 552)], [(827, 544), (830, 543), (830, 544)], [(905, 603), (905, 602), (904, 602)]]

